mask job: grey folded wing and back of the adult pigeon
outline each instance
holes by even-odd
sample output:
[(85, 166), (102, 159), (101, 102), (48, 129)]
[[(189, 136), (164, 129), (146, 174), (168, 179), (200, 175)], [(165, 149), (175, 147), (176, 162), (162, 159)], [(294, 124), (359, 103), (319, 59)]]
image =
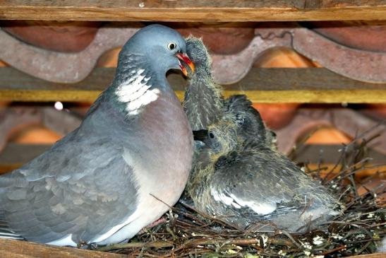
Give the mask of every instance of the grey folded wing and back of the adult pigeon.
[[(131, 168), (121, 158), (123, 144), (104, 126), (92, 125), (101, 111), (49, 151), (0, 177), (0, 213), (13, 233), (36, 242), (68, 235), (88, 241), (133, 213), (138, 200), (126, 176)], [(121, 191), (134, 198), (123, 198)], [(108, 216), (111, 210), (117, 216)]]

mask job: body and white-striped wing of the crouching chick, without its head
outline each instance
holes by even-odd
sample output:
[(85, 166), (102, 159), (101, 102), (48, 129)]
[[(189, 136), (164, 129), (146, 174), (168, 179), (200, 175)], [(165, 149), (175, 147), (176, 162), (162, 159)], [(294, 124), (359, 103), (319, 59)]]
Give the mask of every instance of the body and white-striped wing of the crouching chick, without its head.
[[(241, 228), (270, 221), (291, 232), (339, 214), (339, 202), (287, 157), (269, 147), (246, 146), (217, 163), (210, 180), (213, 213)], [(312, 222), (312, 223), (311, 223)], [(271, 228), (272, 230), (272, 228)]]

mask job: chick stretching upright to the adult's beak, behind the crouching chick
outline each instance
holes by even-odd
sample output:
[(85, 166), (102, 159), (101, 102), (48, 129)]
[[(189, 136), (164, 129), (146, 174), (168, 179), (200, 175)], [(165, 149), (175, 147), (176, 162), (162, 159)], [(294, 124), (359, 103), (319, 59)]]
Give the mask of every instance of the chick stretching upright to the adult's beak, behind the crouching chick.
[[(222, 87), (215, 83), (212, 78), (212, 61), (210, 54), (205, 47), (203, 40), (197, 37), (188, 37), (186, 39), (186, 52), (195, 64), (195, 72), (188, 73), (188, 86), (183, 100), (183, 108), (188, 117), (188, 121), (194, 131), (207, 129), (210, 124), (218, 122), (224, 117), (234, 117), (240, 124), (239, 137), (245, 139), (258, 137), (260, 141), (270, 141), (270, 146), (275, 147), (276, 135), (273, 131), (265, 129), (263, 119), (251, 107), (252, 102), (246, 98), (246, 95), (233, 95), (227, 100), (223, 98)], [(189, 71), (189, 69), (187, 67)], [(245, 122), (237, 117), (243, 117)], [(257, 118), (257, 119), (256, 119)], [(264, 130), (263, 133), (260, 130)]]

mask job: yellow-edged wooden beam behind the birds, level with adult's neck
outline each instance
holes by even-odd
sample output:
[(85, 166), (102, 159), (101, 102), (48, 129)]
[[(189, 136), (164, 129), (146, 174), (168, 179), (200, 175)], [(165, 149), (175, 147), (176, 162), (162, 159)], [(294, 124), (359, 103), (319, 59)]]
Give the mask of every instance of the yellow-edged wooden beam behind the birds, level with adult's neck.
[[(93, 101), (112, 78), (114, 68), (97, 68), (80, 83), (51, 83), (16, 69), (0, 68), (0, 101)], [(186, 80), (168, 79), (182, 100)], [(253, 102), (385, 103), (386, 84), (355, 81), (323, 68), (252, 68), (224, 95), (246, 94)]]

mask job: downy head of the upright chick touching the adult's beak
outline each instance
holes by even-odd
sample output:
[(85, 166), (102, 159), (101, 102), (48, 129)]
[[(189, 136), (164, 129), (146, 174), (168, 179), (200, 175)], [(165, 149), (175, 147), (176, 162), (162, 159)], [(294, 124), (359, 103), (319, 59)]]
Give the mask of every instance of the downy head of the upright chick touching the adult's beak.
[[(203, 40), (198, 37), (189, 36), (186, 38), (186, 54), (191, 58), (195, 64), (197, 72), (206, 72), (210, 74), (212, 60), (210, 54), (204, 45)], [(188, 68), (188, 67), (187, 67)], [(193, 71), (189, 69), (189, 77), (192, 76)]]

